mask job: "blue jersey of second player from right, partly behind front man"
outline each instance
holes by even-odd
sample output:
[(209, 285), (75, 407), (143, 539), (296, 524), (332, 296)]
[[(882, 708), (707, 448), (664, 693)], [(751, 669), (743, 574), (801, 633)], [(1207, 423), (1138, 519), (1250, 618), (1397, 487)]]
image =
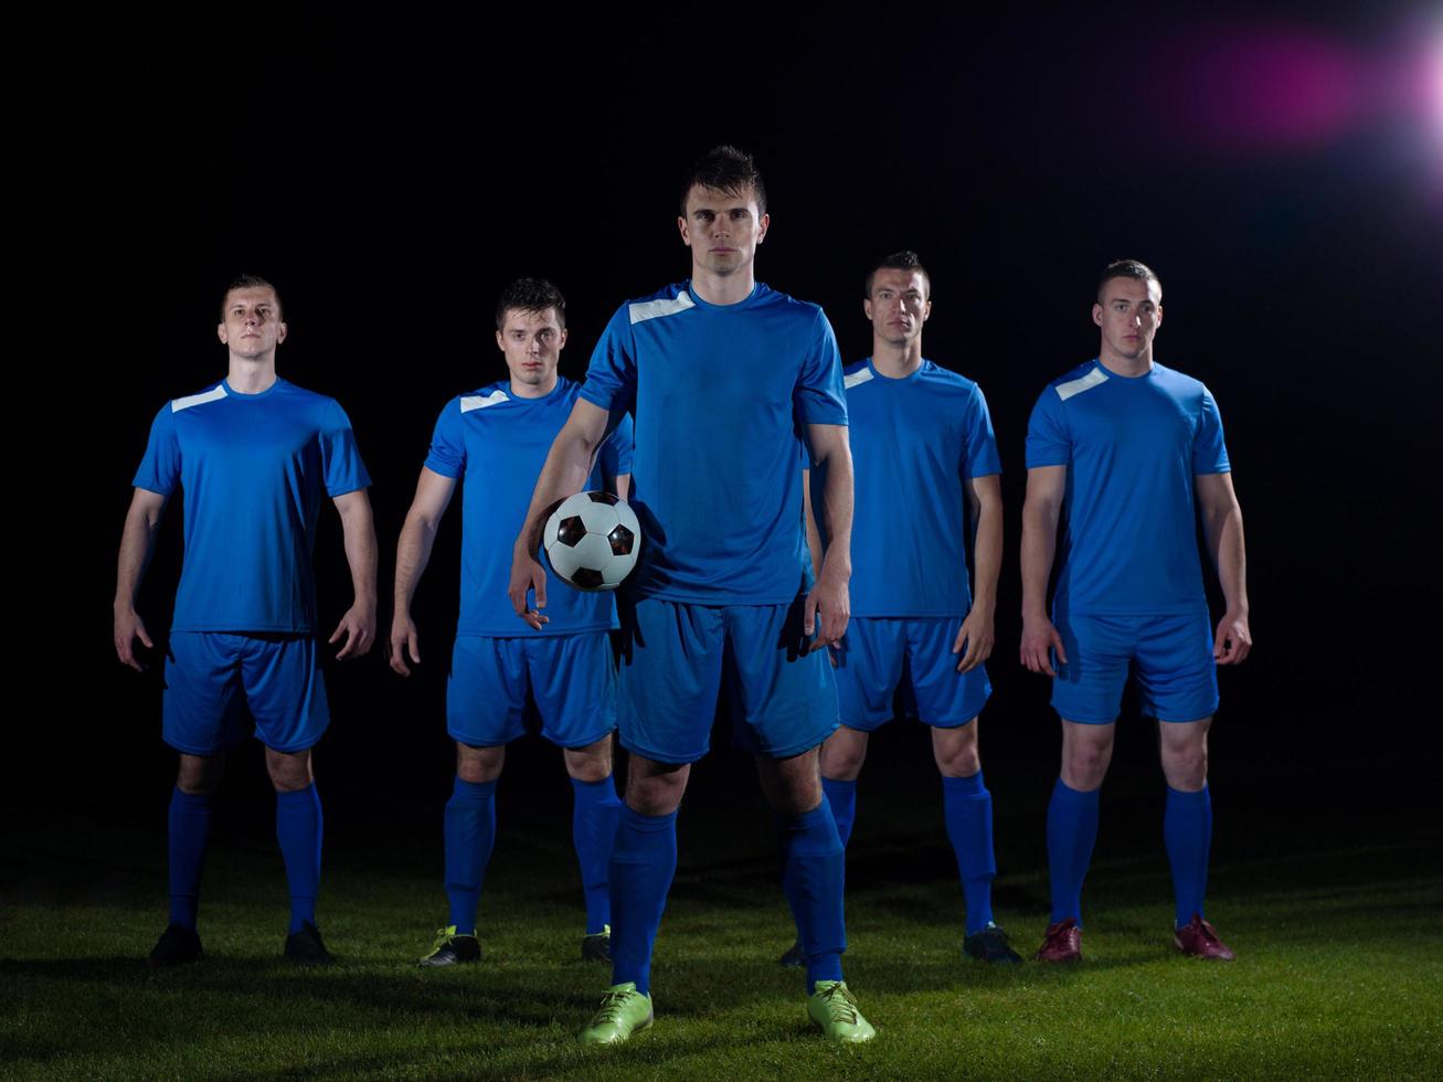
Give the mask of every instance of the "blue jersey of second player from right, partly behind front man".
[(962, 485), (1001, 473), (981, 388), (926, 359), (889, 379), (867, 358), (844, 384), (856, 476), (851, 615), (965, 616)]

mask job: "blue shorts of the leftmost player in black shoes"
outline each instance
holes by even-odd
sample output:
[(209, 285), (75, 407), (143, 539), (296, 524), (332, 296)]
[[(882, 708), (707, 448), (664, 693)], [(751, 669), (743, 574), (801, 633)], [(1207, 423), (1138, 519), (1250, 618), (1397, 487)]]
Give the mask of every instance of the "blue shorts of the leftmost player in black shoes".
[(186, 755), (215, 755), (255, 737), (304, 752), (330, 724), (320, 651), (310, 635), (170, 632), (162, 733)]

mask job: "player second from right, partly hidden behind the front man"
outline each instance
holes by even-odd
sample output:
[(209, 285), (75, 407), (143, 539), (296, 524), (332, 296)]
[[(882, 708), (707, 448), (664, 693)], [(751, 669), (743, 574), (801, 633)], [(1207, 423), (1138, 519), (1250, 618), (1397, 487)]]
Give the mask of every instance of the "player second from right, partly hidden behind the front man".
[[(967, 923), (962, 949), (1020, 962), (993, 922), (991, 795), (977, 753), (977, 714), (991, 694), (1001, 567), (1001, 465), (981, 390), (922, 356), (932, 284), (916, 252), (867, 274), (872, 356), (844, 374), (856, 506), (851, 622), (834, 649), (841, 726), (821, 749), (821, 783), (846, 847), (869, 734), (905, 710), (932, 729), (942, 814), (957, 854)], [(964, 503), (967, 518), (964, 521)], [(964, 538), (975, 532), (975, 597)], [(799, 965), (799, 946), (782, 965)]]

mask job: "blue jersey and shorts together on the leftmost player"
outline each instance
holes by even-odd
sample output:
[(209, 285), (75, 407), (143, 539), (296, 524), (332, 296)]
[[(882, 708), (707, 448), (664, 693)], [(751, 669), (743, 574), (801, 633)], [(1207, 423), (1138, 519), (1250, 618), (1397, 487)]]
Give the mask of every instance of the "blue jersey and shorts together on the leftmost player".
[(284, 379), (260, 394), (222, 381), (160, 410), (134, 485), (185, 492), (166, 743), (224, 750), (238, 737), (241, 697), (267, 746), (297, 752), (320, 739), (316, 518), (323, 496), (369, 483), (341, 405)]

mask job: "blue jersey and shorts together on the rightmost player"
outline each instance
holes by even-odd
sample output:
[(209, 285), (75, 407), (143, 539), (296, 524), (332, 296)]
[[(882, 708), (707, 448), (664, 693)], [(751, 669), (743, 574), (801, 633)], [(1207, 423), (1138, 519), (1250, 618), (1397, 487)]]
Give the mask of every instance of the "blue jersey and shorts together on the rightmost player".
[(1038, 400), (1027, 424), (1027, 467), (1036, 466), (1068, 467), (1053, 597), (1068, 664), (1058, 667), (1053, 707), (1068, 721), (1113, 721), (1131, 664), (1146, 713), (1212, 714), (1193, 478), (1231, 467), (1208, 388), (1159, 364), (1127, 378), (1089, 361)]

